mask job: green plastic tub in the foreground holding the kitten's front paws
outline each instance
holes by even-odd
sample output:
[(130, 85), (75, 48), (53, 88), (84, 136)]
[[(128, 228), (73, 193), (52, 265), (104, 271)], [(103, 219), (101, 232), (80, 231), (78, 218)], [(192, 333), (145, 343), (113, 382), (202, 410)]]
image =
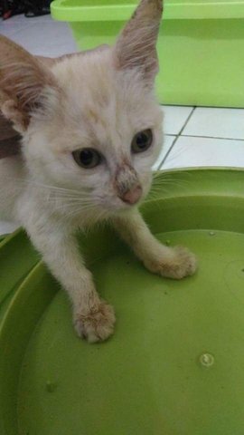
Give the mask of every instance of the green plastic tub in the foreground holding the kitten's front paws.
[(164, 279), (109, 228), (83, 238), (117, 313), (106, 343), (76, 336), (67, 296), (24, 234), (6, 241), (13, 270), (25, 249), (26, 274), (0, 328), (1, 435), (243, 434), (244, 171), (176, 170), (161, 180), (145, 219), (162, 242), (192, 249), (199, 270)]

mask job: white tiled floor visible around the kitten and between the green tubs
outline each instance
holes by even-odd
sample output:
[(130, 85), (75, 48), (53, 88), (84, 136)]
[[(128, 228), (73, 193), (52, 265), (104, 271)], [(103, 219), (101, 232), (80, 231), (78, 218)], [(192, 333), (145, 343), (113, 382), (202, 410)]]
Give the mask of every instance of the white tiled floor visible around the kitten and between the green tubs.
[[(50, 15), (14, 16), (0, 22), (0, 34), (33, 54), (55, 56), (76, 50), (67, 24), (52, 21)], [(244, 109), (163, 106), (163, 110), (164, 150), (155, 169), (244, 167)], [(0, 234), (14, 227), (0, 221)]]

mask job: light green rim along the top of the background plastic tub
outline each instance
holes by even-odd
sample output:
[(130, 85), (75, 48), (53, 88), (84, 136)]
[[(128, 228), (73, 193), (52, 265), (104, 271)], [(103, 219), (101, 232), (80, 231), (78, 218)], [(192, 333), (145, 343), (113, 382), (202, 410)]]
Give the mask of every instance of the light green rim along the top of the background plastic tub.
[[(126, 21), (136, 8), (135, 5), (69, 6), (67, 0), (54, 0), (51, 4), (52, 17), (68, 22)], [(230, 3), (166, 4), (164, 20), (230, 19), (244, 17), (243, 1)]]

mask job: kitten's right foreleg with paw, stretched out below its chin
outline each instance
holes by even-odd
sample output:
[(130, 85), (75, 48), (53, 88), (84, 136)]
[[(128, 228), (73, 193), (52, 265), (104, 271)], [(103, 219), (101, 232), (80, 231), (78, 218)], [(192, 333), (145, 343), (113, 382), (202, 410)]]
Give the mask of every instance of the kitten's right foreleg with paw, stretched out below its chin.
[(184, 247), (165, 247), (151, 234), (137, 210), (114, 218), (114, 227), (151, 272), (181, 279), (197, 267), (195, 256)]

